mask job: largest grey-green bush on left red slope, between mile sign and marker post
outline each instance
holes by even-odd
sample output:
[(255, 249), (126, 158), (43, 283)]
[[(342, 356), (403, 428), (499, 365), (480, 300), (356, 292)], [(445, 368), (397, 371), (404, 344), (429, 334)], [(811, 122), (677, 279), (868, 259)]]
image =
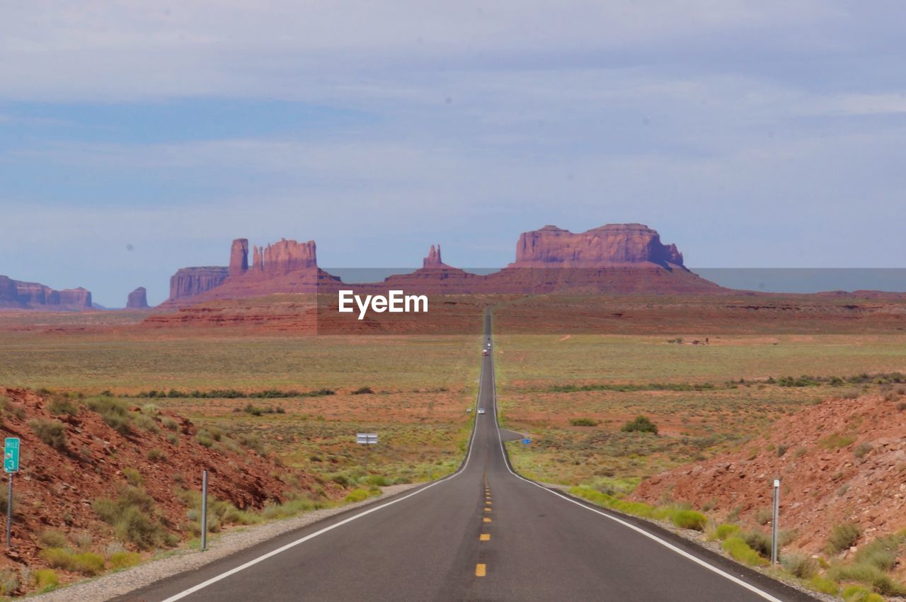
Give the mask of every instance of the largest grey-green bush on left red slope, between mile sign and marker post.
[(92, 510), (113, 527), (118, 538), (131, 541), (140, 549), (168, 543), (166, 530), (154, 517), (154, 498), (140, 487), (123, 488), (116, 500), (98, 498), (92, 502)]

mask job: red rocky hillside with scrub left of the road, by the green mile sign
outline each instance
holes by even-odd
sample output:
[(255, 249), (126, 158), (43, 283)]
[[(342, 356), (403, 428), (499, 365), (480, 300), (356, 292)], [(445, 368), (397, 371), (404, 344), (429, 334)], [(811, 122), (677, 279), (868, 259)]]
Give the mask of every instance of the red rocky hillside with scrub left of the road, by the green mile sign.
[[(257, 519), (255, 510), (299, 496), (342, 495), (335, 483), (321, 485), (282, 466), (254, 435), (198, 429), (150, 404), (0, 387), (0, 416), (4, 436), (18, 437), (22, 450), (13, 546), (0, 557), (0, 587), (47, 567), (62, 582), (74, 580), (116, 568), (128, 558), (123, 554), (197, 537), (204, 470), (218, 500), (211, 512), (216, 527), (246, 524)], [(17, 593), (29, 589), (27, 580), (18, 578)]]

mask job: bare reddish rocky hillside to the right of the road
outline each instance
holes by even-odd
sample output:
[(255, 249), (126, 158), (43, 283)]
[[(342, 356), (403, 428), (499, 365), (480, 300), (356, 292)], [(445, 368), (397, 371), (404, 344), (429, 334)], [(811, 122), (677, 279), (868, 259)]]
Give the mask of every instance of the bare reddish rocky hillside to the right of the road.
[(857, 545), (906, 527), (906, 387), (830, 399), (766, 429), (738, 452), (642, 481), (633, 497), (687, 501), (715, 519), (765, 524), (780, 479), (780, 528), (790, 546), (825, 549), (837, 525)]

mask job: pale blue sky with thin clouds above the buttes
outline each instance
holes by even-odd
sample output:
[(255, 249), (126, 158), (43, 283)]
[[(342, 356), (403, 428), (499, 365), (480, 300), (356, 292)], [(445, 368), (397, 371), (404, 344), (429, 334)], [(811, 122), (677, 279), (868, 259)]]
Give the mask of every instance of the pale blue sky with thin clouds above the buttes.
[(899, 2), (0, 0), (0, 274), (123, 306), (230, 241), (501, 267), (906, 267)]

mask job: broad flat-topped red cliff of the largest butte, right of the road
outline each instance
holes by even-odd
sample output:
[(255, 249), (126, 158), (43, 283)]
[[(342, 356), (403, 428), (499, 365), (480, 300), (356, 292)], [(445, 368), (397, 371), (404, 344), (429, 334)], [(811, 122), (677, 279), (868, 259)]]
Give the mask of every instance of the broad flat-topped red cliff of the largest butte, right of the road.
[(626, 264), (682, 266), (676, 245), (663, 245), (642, 224), (608, 224), (582, 233), (556, 226), (525, 232), (510, 267), (611, 267)]

